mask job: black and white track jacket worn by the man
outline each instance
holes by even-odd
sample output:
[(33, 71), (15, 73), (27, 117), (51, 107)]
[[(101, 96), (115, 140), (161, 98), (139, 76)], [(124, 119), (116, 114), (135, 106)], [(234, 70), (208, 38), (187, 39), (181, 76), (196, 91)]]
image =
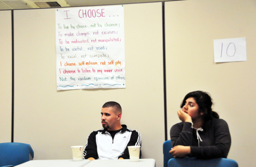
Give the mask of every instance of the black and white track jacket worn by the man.
[(129, 159), (127, 146), (141, 146), (141, 134), (126, 125), (122, 127), (114, 139), (107, 129), (93, 131), (84, 146), (84, 159)]

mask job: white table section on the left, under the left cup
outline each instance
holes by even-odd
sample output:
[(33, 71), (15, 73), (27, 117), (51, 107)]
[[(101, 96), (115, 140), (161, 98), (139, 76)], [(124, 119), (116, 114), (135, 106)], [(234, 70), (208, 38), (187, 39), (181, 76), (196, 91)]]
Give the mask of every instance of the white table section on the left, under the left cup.
[(83, 167), (89, 162), (90, 160), (88, 159), (83, 159), (81, 161), (74, 161), (73, 159), (31, 160), (15, 167)]

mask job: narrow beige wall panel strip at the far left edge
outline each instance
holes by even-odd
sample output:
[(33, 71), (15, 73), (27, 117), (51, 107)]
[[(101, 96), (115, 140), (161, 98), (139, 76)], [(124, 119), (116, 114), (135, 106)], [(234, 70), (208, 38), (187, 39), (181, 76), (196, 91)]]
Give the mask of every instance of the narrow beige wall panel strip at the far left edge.
[(12, 13), (0, 11), (0, 143), (12, 136)]

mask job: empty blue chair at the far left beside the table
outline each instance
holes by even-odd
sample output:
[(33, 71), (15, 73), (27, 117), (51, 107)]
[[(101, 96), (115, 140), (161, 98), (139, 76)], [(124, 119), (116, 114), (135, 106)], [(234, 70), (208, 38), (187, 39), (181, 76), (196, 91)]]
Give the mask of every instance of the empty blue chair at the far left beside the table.
[(34, 158), (29, 144), (18, 142), (0, 143), (0, 167), (13, 167)]

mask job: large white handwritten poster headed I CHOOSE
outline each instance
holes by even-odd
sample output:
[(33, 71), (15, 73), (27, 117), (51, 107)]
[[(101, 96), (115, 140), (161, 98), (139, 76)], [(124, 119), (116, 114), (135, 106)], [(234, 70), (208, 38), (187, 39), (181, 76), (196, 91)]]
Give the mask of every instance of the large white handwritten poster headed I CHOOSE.
[(125, 88), (124, 7), (56, 10), (57, 90)]

